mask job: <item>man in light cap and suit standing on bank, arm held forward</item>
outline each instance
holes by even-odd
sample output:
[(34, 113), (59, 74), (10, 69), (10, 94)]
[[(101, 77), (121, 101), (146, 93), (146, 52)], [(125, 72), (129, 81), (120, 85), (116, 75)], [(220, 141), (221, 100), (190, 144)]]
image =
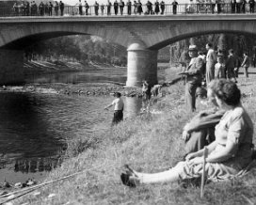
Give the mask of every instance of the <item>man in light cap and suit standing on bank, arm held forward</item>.
[(190, 112), (196, 110), (196, 90), (201, 84), (201, 70), (203, 60), (198, 57), (198, 48), (196, 45), (190, 45), (188, 55), (191, 57), (189, 66), (180, 74), (185, 75), (185, 104)]

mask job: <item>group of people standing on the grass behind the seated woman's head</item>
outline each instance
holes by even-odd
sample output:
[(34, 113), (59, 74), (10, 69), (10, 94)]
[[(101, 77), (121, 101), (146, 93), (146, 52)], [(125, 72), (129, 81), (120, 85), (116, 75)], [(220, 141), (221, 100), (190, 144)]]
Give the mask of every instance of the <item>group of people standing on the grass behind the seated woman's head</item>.
[(196, 110), (196, 96), (200, 95), (197, 91), (202, 85), (208, 86), (212, 80), (220, 78), (230, 79), (236, 83), (240, 67), (244, 69), (245, 77), (248, 77), (249, 60), (246, 52), (243, 62), (240, 63), (232, 49), (229, 50), (226, 60), (222, 51), (216, 53), (212, 43), (206, 44), (206, 50), (207, 55), (203, 55), (196, 45), (189, 46), (188, 55), (191, 60), (189, 66), (180, 73), (185, 79), (185, 102), (191, 112)]

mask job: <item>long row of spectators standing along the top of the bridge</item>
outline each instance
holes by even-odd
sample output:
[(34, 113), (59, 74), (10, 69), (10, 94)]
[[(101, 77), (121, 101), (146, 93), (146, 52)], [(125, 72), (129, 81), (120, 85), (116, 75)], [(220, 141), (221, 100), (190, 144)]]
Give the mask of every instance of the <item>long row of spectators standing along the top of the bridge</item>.
[[(167, 7), (168, 11), (167, 11)], [(179, 8), (180, 7), (180, 8)], [(231, 0), (230, 3), (224, 3), (222, 0), (190, 0), (188, 4), (179, 5), (177, 0), (166, 5), (165, 1), (155, 0), (152, 3), (150, 0), (145, 5), (142, 5), (140, 0), (114, 0), (101, 5), (95, 1), (93, 5), (88, 5), (87, 0), (83, 3), (79, 0), (75, 6), (66, 6), (64, 13), (64, 3), (62, 1), (49, 1), (38, 5), (35, 1), (15, 2), (13, 5), (14, 15), (19, 16), (52, 16), (52, 15), (158, 15), (158, 14), (177, 14), (177, 13), (254, 13), (255, 0)]]

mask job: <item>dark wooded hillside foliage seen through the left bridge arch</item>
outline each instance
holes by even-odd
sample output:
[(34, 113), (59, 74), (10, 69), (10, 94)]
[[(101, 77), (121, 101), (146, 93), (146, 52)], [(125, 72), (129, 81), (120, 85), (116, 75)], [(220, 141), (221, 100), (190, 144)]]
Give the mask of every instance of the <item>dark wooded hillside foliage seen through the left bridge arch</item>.
[(26, 48), (26, 55), (42, 55), (45, 58), (59, 57), (75, 59), (83, 63), (89, 61), (126, 65), (126, 50), (120, 45), (89, 36), (66, 36), (37, 42)]

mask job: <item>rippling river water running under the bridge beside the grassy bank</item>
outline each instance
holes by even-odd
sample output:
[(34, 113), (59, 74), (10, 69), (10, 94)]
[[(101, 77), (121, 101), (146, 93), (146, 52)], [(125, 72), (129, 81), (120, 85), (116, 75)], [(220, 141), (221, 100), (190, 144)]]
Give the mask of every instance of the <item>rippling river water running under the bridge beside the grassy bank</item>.
[[(45, 74), (30, 76), (27, 82), (125, 83), (126, 70), (112, 72), (113, 77), (108, 71)], [(140, 110), (141, 101), (123, 99), (124, 118), (132, 118)], [(113, 100), (111, 96), (0, 92), (0, 182), (44, 178), (57, 166), (67, 140), (109, 129), (113, 112), (103, 108)]]

